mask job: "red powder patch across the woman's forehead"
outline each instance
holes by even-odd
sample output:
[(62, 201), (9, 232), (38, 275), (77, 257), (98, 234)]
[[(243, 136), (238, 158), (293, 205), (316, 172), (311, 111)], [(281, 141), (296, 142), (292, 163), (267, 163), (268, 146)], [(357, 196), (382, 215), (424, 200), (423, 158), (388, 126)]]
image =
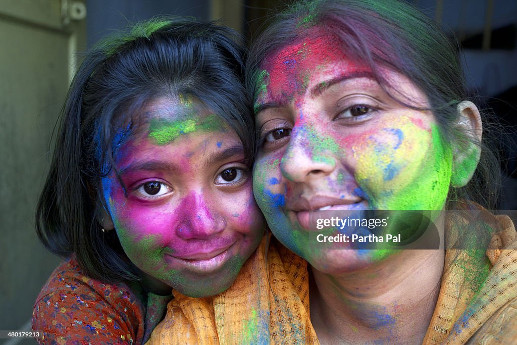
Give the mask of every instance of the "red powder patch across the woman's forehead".
[(342, 43), (334, 34), (318, 30), (314, 35), (300, 39), (270, 55), (263, 65), (269, 73), (268, 98), (291, 100), (296, 94), (307, 91), (311, 77), (331, 63), (346, 62), (340, 73), (369, 70), (349, 60), (341, 50)]

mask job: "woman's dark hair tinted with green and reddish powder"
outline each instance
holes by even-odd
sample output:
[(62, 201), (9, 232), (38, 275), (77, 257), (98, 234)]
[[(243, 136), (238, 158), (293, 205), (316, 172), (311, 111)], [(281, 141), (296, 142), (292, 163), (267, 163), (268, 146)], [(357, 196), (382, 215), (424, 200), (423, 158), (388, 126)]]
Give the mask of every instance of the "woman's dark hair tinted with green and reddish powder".
[[(429, 110), (449, 143), (461, 146), (474, 140), (458, 124), (457, 106), (469, 99), (458, 44), (453, 44), (425, 14), (402, 1), (300, 1), (278, 13), (248, 53), (247, 85), (254, 99), (261, 92), (266, 59), (292, 42), (316, 35), (335, 35), (344, 56), (369, 66), (385, 91), (388, 86), (397, 89), (397, 85), (383, 77), (383, 67), (415, 83), (427, 95)], [(392, 97), (410, 108), (422, 109)], [(459, 200), (475, 201), (488, 208), (497, 201), (499, 165), (493, 140), (486, 139), (491, 129), (487, 116), (481, 113), (483, 142), (475, 142), (481, 147), (481, 158), (474, 177), (464, 187), (450, 187), (449, 209), (457, 207), (455, 202)]]

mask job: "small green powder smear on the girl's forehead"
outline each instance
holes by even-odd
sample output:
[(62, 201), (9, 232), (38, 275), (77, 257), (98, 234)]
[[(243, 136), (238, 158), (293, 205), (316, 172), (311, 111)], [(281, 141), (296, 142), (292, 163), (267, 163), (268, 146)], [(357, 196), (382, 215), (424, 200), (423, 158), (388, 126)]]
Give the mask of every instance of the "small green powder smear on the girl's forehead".
[(168, 118), (152, 118), (149, 123), (148, 138), (157, 145), (167, 145), (182, 134), (205, 130), (211, 131), (220, 127), (219, 117), (215, 114), (199, 118), (196, 113), (187, 114), (188, 119), (171, 120)]

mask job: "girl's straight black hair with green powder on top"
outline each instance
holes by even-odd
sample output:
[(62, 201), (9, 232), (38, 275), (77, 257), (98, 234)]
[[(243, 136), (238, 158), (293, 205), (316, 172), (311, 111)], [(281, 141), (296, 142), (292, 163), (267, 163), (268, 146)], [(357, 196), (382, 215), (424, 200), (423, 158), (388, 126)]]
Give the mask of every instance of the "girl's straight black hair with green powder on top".
[[(214, 22), (158, 18), (97, 44), (70, 86), (36, 231), (60, 257), (75, 255), (85, 273), (105, 282), (137, 280), (114, 231), (102, 232), (107, 212), (101, 178), (120, 138), (141, 122), (139, 110), (158, 97), (192, 97), (238, 134), (252, 164), (254, 120), (244, 87), (244, 49), (235, 33)], [(133, 118), (134, 117), (134, 118)]]

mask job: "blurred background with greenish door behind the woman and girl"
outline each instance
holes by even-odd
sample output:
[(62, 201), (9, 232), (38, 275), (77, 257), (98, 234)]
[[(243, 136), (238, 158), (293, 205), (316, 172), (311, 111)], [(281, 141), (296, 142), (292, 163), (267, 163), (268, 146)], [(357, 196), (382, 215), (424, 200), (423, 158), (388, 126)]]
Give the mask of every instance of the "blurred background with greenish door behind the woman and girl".
[[(413, 0), (462, 42), (468, 87), (494, 109), (510, 137), (517, 125), (517, 2)], [(30, 328), (32, 307), (59, 259), (40, 245), (34, 210), (48, 171), (51, 133), (82, 52), (157, 14), (220, 19), (248, 40), (276, 0), (0, 0), (0, 330)], [(517, 149), (506, 160), (500, 209), (517, 209)], [(0, 339), (32, 344), (31, 339)]]

